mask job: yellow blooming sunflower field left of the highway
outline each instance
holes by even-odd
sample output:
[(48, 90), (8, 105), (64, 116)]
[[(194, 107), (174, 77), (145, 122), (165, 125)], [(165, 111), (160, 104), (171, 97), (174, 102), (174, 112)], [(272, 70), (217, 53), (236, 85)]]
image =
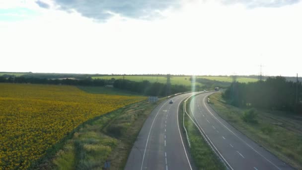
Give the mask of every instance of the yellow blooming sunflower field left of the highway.
[(27, 169), (81, 123), (144, 99), (67, 85), (0, 84), (0, 169)]

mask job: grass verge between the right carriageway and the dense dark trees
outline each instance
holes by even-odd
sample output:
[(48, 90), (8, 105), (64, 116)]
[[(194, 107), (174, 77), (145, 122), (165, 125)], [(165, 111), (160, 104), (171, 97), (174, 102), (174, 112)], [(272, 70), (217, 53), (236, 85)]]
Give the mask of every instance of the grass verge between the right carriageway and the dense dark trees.
[(211, 107), (228, 123), (292, 167), (302, 169), (302, 117), (257, 110), (256, 123), (246, 123), (247, 109), (228, 105), (222, 93), (210, 96)]

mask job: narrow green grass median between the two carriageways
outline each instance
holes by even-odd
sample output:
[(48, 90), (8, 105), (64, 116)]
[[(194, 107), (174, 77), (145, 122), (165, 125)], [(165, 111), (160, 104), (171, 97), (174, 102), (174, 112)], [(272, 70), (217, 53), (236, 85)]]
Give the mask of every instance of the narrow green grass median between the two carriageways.
[[(189, 99), (190, 100), (190, 99)], [(189, 103), (190, 101), (187, 101)], [(187, 111), (189, 110), (189, 105), (186, 105)], [(189, 148), (189, 152), (192, 156), (194, 165), (198, 170), (226, 170), (224, 164), (220, 161), (218, 156), (214, 153), (214, 151), (210, 148), (208, 143), (202, 137), (201, 133), (199, 132), (198, 128), (192, 122), (187, 114), (184, 114), (184, 103), (180, 105), (179, 108), (180, 112), (178, 113), (180, 119), (180, 126), (182, 127), (184, 141)], [(184, 114), (184, 116), (183, 116)], [(190, 115), (190, 113), (189, 113)], [(192, 117), (192, 115), (190, 115)], [(187, 130), (186, 131), (183, 127)], [(188, 135), (189, 143), (186, 138)], [(190, 147), (189, 147), (190, 146)]]

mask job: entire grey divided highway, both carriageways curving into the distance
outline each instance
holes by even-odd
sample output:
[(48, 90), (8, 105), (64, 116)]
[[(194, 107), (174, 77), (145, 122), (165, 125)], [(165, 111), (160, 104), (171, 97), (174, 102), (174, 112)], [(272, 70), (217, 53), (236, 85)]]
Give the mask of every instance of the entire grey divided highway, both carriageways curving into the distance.
[[(222, 119), (200, 93), (189, 103), (193, 120), (230, 170), (292, 170), (292, 168)], [(196, 93), (161, 102), (145, 121), (125, 170), (195, 170), (178, 120), (181, 102)]]

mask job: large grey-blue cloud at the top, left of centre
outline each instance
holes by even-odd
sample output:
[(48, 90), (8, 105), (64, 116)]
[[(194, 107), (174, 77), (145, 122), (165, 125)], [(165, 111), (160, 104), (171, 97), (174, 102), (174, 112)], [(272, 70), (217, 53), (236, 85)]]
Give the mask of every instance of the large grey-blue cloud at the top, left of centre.
[(180, 0), (55, 0), (66, 11), (104, 21), (114, 14), (130, 18), (160, 16), (160, 11), (180, 5)]

